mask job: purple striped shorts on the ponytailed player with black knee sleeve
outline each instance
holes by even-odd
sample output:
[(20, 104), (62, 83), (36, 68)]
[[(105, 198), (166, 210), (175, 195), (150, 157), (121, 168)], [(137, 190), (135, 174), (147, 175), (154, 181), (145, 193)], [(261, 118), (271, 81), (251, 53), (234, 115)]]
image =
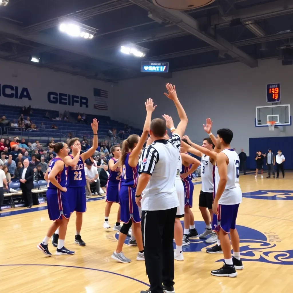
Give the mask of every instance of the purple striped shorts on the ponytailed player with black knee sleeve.
[(130, 219), (136, 223), (140, 223), (139, 209), (135, 202), (135, 190), (136, 188), (132, 188), (128, 185), (120, 186), (120, 220), (126, 224)]

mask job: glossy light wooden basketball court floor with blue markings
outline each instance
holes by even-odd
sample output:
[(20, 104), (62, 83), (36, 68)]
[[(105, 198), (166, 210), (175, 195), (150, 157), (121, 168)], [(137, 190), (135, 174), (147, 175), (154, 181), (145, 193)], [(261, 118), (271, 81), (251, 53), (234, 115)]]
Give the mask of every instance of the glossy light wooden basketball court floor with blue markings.
[[(184, 261), (175, 261), (176, 293), (292, 292), (293, 173), (286, 173), (285, 179), (259, 177), (255, 180), (254, 175), (240, 176), (240, 184), (243, 203), (237, 229), (244, 270), (238, 271), (236, 278), (210, 275), (211, 270), (222, 266), (222, 262), (217, 261), (223, 255), (206, 253), (207, 243), (194, 239), (185, 248)], [(195, 185), (193, 200), (199, 233), (205, 228), (197, 207), (200, 187)], [(36, 248), (51, 224), (47, 210), (25, 210), (25, 213), (9, 216), (2, 213), (0, 292), (137, 293), (147, 289), (144, 262), (136, 260), (137, 247), (125, 245), (123, 250), (132, 263), (116, 263), (111, 258), (117, 235), (112, 229), (103, 229), (104, 208), (104, 200), (87, 204), (81, 233), (86, 247), (74, 243), (75, 215), (72, 215), (65, 246), (76, 254), (49, 258)], [(114, 205), (110, 214), (112, 226), (117, 208), (118, 205)], [(51, 243), (49, 249), (55, 252)]]

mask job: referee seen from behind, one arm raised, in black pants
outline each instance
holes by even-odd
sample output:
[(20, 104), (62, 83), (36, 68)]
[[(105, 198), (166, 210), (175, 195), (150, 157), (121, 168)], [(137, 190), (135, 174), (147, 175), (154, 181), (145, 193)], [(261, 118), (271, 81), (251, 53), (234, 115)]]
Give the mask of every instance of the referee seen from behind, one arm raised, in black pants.
[[(147, 275), (151, 287), (141, 293), (172, 293), (174, 291), (174, 223), (179, 205), (175, 188), (180, 138), (187, 126), (187, 116), (180, 104), (175, 86), (166, 84), (169, 99), (173, 100), (180, 122), (166, 140), (166, 121), (156, 118), (149, 131), (152, 144), (142, 153), (136, 203), (142, 207), (142, 237)], [(141, 194), (144, 193), (142, 198)]]

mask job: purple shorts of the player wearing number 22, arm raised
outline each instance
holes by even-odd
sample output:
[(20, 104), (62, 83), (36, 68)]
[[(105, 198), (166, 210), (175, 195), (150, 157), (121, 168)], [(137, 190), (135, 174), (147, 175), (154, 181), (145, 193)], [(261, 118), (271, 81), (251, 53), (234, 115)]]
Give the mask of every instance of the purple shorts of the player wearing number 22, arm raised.
[(84, 186), (67, 187), (66, 196), (69, 201), (71, 213), (74, 211), (84, 213), (86, 211), (86, 189)]

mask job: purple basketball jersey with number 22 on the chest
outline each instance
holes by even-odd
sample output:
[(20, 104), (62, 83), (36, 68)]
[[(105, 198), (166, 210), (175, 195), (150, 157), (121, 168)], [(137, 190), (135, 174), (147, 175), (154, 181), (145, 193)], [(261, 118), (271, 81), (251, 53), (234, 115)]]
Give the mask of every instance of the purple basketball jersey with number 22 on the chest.
[[(69, 155), (72, 159), (72, 155)], [(66, 187), (84, 187), (86, 185), (86, 175), (84, 173), (84, 161), (79, 156), (79, 161), (75, 166), (67, 167)]]

